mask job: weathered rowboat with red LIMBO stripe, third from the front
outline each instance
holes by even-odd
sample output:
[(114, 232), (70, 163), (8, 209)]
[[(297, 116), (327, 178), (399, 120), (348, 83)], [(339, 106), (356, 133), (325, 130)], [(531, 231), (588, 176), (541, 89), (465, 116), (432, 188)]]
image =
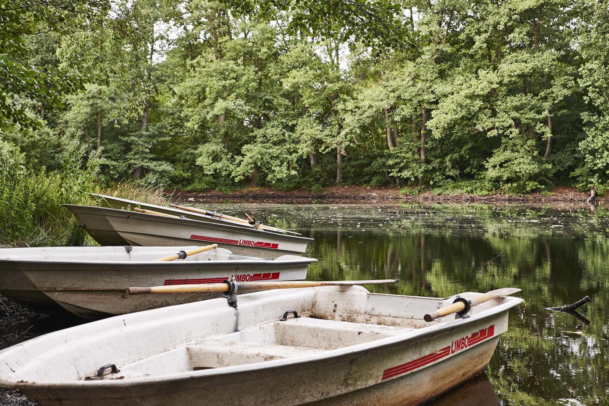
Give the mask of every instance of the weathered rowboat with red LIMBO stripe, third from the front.
[(259, 257), (300, 255), (310, 238), (255, 228), (165, 217), (97, 206), (63, 205), (101, 245), (191, 245), (217, 243), (235, 254)]

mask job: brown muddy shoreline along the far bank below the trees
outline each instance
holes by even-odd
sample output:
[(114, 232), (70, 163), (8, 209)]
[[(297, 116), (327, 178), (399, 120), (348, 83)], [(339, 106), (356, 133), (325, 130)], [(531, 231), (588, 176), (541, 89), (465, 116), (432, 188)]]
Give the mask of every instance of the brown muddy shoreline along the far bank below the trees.
[[(266, 187), (252, 187), (223, 193), (219, 191), (189, 192), (168, 189), (166, 195), (181, 203), (339, 203), (339, 204), (392, 204), (392, 203), (462, 203), (462, 204), (526, 204), (526, 205), (586, 205), (590, 194), (574, 187), (555, 187), (549, 193), (526, 195), (437, 195), (431, 192), (419, 195), (401, 195), (396, 187), (331, 186), (323, 191), (276, 191)], [(596, 198), (591, 203), (607, 204), (609, 198)]]

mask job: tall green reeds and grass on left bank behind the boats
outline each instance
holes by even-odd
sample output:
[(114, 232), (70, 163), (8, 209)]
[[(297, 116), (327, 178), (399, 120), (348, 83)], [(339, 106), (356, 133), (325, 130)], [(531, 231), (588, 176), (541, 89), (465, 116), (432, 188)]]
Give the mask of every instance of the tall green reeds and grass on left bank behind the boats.
[[(0, 162), (0, 247), (93, 244), (62, 205), (96, 205), (91, 193), (101, 189), (101, 154), (75, 140), (63, 150), (56, 172)], [(124, 181), (108, 190), (131, 200), (167, 202), (160, 185)]]

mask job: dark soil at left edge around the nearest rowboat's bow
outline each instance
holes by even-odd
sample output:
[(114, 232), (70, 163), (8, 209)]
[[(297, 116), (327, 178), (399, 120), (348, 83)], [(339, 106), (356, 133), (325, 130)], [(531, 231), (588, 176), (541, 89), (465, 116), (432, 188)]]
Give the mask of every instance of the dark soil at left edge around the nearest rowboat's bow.
[[(33, 312), (0, 296), (0, 349), (52, 331), (83, 323), (71, 315), (49, 316)], [(0, 388), (0, 406), (35, 406), (36, 402), (16, 390)]]

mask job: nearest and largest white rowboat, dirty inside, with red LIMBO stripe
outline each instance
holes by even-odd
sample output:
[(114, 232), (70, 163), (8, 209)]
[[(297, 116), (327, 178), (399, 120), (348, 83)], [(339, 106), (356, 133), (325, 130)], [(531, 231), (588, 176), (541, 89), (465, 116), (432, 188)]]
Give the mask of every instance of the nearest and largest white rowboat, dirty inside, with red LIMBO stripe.
[(456, 297), (324, 286), (133, 313), (1, 351), (0, 387), (43, 406), (415, 405), (484, 371), (522, 301), (423, 320)]

